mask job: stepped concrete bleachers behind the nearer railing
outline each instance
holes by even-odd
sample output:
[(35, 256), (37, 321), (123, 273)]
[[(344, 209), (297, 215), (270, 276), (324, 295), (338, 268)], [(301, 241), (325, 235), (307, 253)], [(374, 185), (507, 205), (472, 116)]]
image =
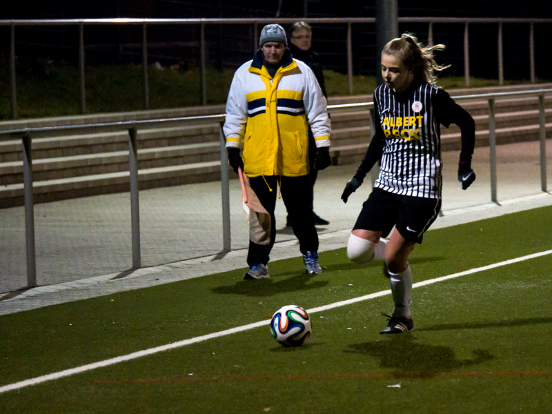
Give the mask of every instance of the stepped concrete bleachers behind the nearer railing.
[[(550, 84), (504, 88), (451, 90), (451, 95), (551, 88)], [(371, 95), (333, 97), (329, 104), (371, 101)], [(476, 123), (476, 145), (489, 144), (489, 108), (486, 100), (462, 106)], [(552, 128), (552, 97), (545, 100), (547, 130)], [(83, 115), (47, 119), (4, 121), (0, 130), (120, 122), (143, 119), (218, 115), (224, 105)], [(497, 144), (538, 139), (539, 112), (536, 97), (496, 101)], [(370, 112), (334, 113), (332, 120), (333, 164), (353, 164), (364, 157), (371, 137)], [(128, 191), (128, 133), (53, 131), (33, 137), (32, 166), (34, 202), (54, 201)], [(220, 179), (219, 124), (206, 121), (138, 131), (139, 186), (141, 189), (190, 184)], [(442, 130), (442, 149), (460, 148), (456, 126)], [(0, 208), (23, 204), (21, 140), (0, 141)]]

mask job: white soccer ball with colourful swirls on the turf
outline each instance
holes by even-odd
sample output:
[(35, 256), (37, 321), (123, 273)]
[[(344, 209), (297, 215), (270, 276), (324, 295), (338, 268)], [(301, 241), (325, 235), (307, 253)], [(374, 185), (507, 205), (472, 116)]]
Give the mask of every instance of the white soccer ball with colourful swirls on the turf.
[(272, 336), (284, 346), (302, 345), (311, 336), (311, 318), (295, 305), (279, 308), (270, 321)]

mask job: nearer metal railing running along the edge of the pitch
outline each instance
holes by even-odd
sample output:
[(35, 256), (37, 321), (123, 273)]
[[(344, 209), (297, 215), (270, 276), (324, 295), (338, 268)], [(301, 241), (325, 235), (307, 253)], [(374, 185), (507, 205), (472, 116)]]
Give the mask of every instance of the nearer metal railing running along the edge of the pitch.
[[(498, 204), (497, 199), (497, 166), (496, 166), (496, 139), (495, 139), (495, 101), (511, 97), (537, 97), (539, 101), (539, 130), (540, 130), (540, 179), (541, 190), (547, 192), (546, 184), (546, 123), (544, 95), (551, 94), (552, 89), (499, 92), (481, 95), (464, 95), (454, 97), (457, 101), (487, 101), (489, 104), (489, 149), (491, 169), (491, 201)], [(368, 109), (373, 114), (373, 102), (346, 103), (342, 105), (328, 106), (328, 112), (351, 112), (351, 110)], [(155, 126), (179, 125), (183, 122), (195, 124), (217, 123), (220, 124), (220, 159), (221, 159), (221, 210), (223, 226), (223, 249), (230, 251), (230, 184), (228, 174), (228, 155), (226, 152), (226, 139), (222, 131), (224, 115), (206, 115), (200, 117), (179, 117), (168, 119), (148, 119), (143, 121), (121, 121), (103, 124), (88, 124), (78, 126), (53, 126), (42, 128), (25, 128), (19, 130), (0, 131), (0, 140), (21, 139), (23, 152), (23, 185), (25, 201), (25, 226), (26, 226), (26, 258), (27, 258), (27, 284), (28, 288), (37, 286), (35, 250), (34, 250), (34, 202), (32, 193), (32, 137), (51, 132), (70, 132), (72, 130), (101, 129), (110, 132), (128, 131), (128, 160), (130, 174), (130, 213), (132, 226), (132, 268), (141, 268), (140, 253), (140, 219), (139, 219), (139, 190), (138, 190), (138, 162), (137, 162), (137, 134), (140, 128)], [(371, 123), (373, 131), (373, 115)], [(373, 172), (375, 168), (373, 168)], [(373, 176), (374, 177), (374, 176)]]

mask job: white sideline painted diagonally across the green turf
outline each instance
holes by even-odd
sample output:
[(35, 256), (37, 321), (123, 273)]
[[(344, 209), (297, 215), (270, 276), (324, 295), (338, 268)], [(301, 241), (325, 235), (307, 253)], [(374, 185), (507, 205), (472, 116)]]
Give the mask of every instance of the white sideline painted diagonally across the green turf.
[[(546, 251), (540, 252), (540, 253), (533, 253), (532, 255), (526, 255), (526, 256), (522, 256), (522, 257), (517, 257), (516, 259), (505, 260), (504, 262), (489, 264), (487, 266), (482, 266), (480, 268), (474, 268), (474, 269), (471, 269), (471, 270), (465, 270), (464, 272), (453, 273), (452, 275), (447, 275), (447, 276), (442, 276), (442, 277), (435, 277), (435, 279), (424, 280), (423, 282), (417, 282), (417, 283), (413, 284), (412, 287), (413, 288), (419, 288), (420, 286), (426, 286), (426, 285), (434, 284), (434, 283), (437, 283), (437, 282), (443, 282), (444, 280), (454, 279), (455, 277), (471, 275), (473, 273), (478, 273), (478, 272), (484, 272), (485, 270), (491, 270), (491, 269), (498, 268), (498, 267), (501, 267), (501, 266), (507, 266), (509, 264), (514, 264), (514, 263), (517, 263), (517, 262), (524, 262), (525, 260), (535, 259), (536, 257), (550, 255), (551, 253), (552, 253), (552, 250), (546, 250)], [(328, 309), (339, 308), (340, 306), (346, 306), (346, 305), (354, 304), (356, 302), (362, 302), (362, 301), (367, 300), (367, 299), (373, 299), (375, 297), (380, 297), (380, 296), (389, 295), (389, 294), (391, 294), (391, 290), (382, 290), (381, 292), (371, 293), (370, 295), (355, 297), (353, 299), (344, 300), (342, 302), (335, 302), (333, 304), (328, 304), (328, 305), (324, 305), (324, 306), (319, 306), (317, 308), (308, 309), (307, 312), (308, 313), (317, 313), (317, 312), (322, 312), (322, 311), (328, 311)], [(160, 352), (163, 352), (163, 351), (168, 351), (170, 349), (179, 348), (181, 346), (195, 344), (197, 342), (203, 342), (203, 341), (206, 341), (208, 339), (214, 339), (214, 338), (218, 338), (218, 337), (224, 337), (226, 335), (231, 335), (233, 333), (248, 331), (250, 329), (259, 328), (260, 326), (265, 326), (265, 325), (268, 325), (268, 324), (270, 324), (270, 321), (265, 320), (265, 321), (255, 322), (253, 324), (237, 326), (236, 328), (226, 329), (225, 331), (219, 331), (219, 332), (209, 333), (208, 335), (202, 335), (202, 336), (195, 337), (195, 338), (184, 339), (183, 341), (173, 342), (172, 344), (167, 344), (167, 345), (163, 345), (163, 346), (157, 346), (155, 348), (150, 348), (150, 349), (146, 349), (144, 351), (138, 351), (138, 352), (135, 352), (135, 353), (130, 353), (128, 355), (123, 355), (121, 357), (105, 359), (103, 361), (95, 362), (93, 364), (87, 364), (87, 365), (79, 366), (77, 368), (70, 368), (70, 369), (66, 369), (65, 371), (59, 371), (57, 373), (42, 375), (41, 377), (32, 378), (30, 380), (14, 382), (13, 384), (0, 386), (0, 394), (1, 393), (6, 393), (7, 391), (17, 390), (19, 388), (24, 388), (26, 386), (41, 384), (42, 382), (58, 380), (59, 378), (69, 377), (70, 375), (74, 375), (74, 374), (79, 374), (79, 373), (83, 373), (83, 372), (86, 372), (86, 371), (92, 371), (93, 369), (102, 368), (103, 366), (119, 364), (119, 362), (130, 361), (130, 359), (136, 359), (136, 358), (139, 358), (139, 357), (144, 357), (146, 355), (153, 355), (153, 354), (160, 353)]]

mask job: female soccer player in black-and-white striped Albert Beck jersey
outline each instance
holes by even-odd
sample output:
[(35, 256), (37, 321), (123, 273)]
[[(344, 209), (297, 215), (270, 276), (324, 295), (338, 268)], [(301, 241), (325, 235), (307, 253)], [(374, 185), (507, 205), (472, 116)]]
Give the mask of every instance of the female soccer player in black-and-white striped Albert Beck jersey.
[[(384, 275), (391, 281), (395, 310), (382, 334), (414, 328), (408, 255), (415, 243), (422, 243), (424, 232), (441, 208), (440, 125), (460, 126), (458, 180), (464, 190), (475, 180), (471, 169), (473, 118), (435, 86), (435, 72), (444, 67), (435, 63), (432, 52), (442, 49), (443, 45), (423, 47), (411, 34), (386, 44), (382, 51), (385, 84), (374, 91), (375, 135), (341, 197), (346, 203), (380, 161), (380, 176), (351, 232), (347, 255), (360, 264), (385, 259)], [(395, 231), (388, 242), (380, 239), (387, 237), (393, 226)]]

